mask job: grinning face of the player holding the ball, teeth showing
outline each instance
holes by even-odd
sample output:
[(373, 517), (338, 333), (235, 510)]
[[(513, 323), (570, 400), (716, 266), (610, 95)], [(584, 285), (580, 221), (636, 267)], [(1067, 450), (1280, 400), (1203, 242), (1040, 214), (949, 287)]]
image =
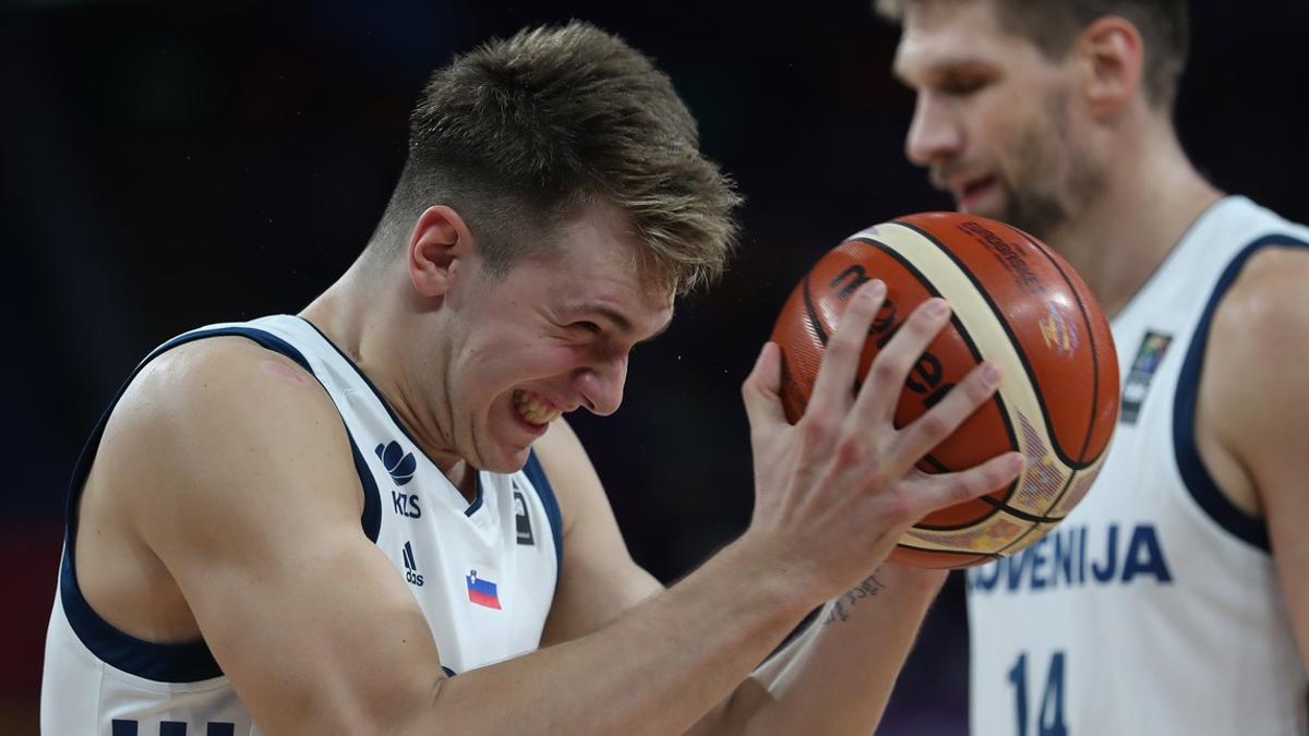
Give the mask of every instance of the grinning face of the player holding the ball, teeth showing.
[(643, 283), (641, 242), (617, 212), (585, 210), (562, 244), (501, 278), (473, 265), (442, 306), (444, 406), (433, 414), (474, 468), (518, 470), (562, 414), (617, 411), (628, 354), (672, 320), (673, 295)]

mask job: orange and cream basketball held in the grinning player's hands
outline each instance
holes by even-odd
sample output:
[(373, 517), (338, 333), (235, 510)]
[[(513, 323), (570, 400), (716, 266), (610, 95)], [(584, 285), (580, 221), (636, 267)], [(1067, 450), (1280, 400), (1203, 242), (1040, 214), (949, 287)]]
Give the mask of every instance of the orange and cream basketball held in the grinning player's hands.
[(1033, 543), (1086, 495), (1118, 419), (1118, 358), (1090, 289), (1049, 246), (986, 217), (928, 212), (864, 229), (813, 266), (774, 327), (792, 423), (804, 414), (846, 301), (870, 279), (886, 284), (886, 300), (860, 356), (860, 380), (920, 303), (939, 296), (953, 310), (910, 371), (897, 427), (923, 415), (983, 360), (1004, 372), (995, 396), (919, 469), (965, 470), (1009, 451), (1028, 460), (1008, 487), (925, 516), (890, 561), (969, 567)]

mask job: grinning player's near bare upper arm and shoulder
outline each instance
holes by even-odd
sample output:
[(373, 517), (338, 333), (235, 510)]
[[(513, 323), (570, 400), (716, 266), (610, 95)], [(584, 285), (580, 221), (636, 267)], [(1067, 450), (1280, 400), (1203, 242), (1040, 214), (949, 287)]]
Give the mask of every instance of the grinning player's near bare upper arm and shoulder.
[[(114, 426), (113, 423), (117, 423)], [(291, 360), (240, 338), (156, 360), (110, 430), (140, 485), (136, 533), (268, 733), (402, 732), (440, 660), (363, 533), (342, 419)]]

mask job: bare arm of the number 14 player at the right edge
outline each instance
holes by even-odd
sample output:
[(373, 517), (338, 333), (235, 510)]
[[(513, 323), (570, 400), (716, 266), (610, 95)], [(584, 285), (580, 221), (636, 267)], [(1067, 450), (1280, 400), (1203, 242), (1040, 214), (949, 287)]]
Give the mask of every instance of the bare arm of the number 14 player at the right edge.
[[(1202, 435), (1224, 491), (1262, 515), (1309, 664), (1309, 253), (1263, 251), (1215, 317), (1200, 384)], [(1202, 437), (1203, 440), (1203, 437)], [(1245, 500), (1242, 504), (1241, 502)]]

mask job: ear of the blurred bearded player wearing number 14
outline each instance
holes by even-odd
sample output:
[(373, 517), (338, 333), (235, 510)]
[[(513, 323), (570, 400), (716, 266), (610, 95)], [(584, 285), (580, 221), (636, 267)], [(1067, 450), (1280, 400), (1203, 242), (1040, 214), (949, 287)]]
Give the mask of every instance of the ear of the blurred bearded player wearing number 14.
[(1097, 118), (1122, 110), (1141, 85), (1145, 47), (1140, 31), (1121, 16), (1097, 18), (1077, 39), (1083, 94)]

